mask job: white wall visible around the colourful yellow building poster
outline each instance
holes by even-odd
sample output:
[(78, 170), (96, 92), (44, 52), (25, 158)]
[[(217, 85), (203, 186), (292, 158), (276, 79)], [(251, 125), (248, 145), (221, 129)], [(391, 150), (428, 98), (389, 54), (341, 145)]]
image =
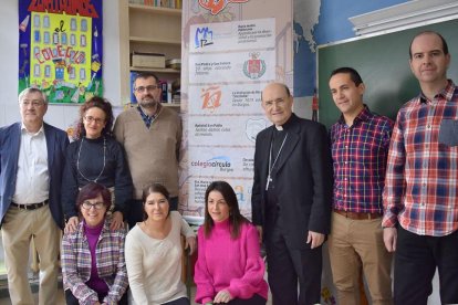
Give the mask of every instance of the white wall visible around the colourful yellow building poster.
[[(104, 97), (121, 106), (118, 1), (103, 1)], [(18, 108), (19, 70), (18, 0), (2, 0), (0, 8), (0, 126), (20, 119)], [(76, 105), (50, 105), (44, 119), (66, 129), (77, 118)]]

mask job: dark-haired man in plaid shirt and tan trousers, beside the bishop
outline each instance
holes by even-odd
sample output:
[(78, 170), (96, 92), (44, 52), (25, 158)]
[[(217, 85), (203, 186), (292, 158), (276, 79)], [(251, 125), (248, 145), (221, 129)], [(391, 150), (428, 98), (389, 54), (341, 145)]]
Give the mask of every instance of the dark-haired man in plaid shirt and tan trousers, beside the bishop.
[(340, 305), (360, 304), (363, 270), (372, 304), (392, 304), (392, 255), (383, 242), (382, 192), (393, 122), (363, 104), (365, 86), (352, 67), (331, 73), (342, 112), (331, 128), (334, 204), (329, 250)]

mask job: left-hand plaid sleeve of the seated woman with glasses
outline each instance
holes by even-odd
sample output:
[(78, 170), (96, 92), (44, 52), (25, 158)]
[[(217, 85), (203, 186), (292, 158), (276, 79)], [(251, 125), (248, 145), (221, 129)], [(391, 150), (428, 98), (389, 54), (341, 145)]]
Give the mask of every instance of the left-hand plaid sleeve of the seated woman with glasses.
[(93, 304), (98, 301), (97, 293), (91, 290), (81, 278), (76, 266), (75, 242), (72, 239), (77, 231), (72, 234), (64, 234), (62, 238), (62, 277), (72, 294), (80, 301), (80, 304)]

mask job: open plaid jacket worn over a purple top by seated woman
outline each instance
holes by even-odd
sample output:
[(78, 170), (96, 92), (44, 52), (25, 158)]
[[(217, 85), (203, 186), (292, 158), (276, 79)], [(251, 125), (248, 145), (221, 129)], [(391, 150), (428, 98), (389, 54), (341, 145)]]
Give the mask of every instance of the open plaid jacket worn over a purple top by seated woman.
[[(110, 287), (104, 298), (107, 304), (117, 304), (128, 285), (124, 260), (125, 235), (124, 229), (111, 231), (110, 221), (105, 220), (95, 250), (98, 276)], [(64, 288), (70, 288), (80, 304), (98, 302), (97, 293), (85, 284), (91, 277), (92, 257), (83, 222), (75, 232), (63, 235), (61, 253)]]

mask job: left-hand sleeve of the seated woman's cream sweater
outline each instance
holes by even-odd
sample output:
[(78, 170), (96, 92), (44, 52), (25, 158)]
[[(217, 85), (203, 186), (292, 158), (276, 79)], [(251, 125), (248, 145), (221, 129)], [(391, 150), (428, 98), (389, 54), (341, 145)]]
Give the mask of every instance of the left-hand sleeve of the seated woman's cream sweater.
[(145, 278), (143, 274), (143, 251), (139, 244), (136, 230), (140, 230), (138, 227), (134, 227), (126, 236), (126, 266), (127, 276), (131, 286), (132, 296), (136, 304), (148, 304), (148, 297), (145, 291)]

